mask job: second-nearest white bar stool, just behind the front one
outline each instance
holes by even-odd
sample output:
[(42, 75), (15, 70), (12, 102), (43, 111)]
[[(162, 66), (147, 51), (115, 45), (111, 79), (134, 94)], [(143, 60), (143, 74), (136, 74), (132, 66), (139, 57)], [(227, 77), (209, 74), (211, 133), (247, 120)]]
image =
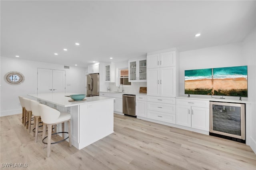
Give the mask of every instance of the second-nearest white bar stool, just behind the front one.
[(35, 132), (33, 133), (33, 136), (35, 136), (35, 142), (37, 142), (37, 136), (38, 136), (38, 127), (39, 127), (39, 119), (41, 118), (38, 108), (38, 101), (30, 100), (31, 110), (34, 115), (34, 129)]

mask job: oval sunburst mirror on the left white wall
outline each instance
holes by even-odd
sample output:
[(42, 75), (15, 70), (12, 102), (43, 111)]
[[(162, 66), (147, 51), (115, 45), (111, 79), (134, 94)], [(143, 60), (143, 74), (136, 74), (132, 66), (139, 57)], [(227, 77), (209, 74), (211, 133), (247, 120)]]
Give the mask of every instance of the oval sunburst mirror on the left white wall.
[(20, 85), (24, 82), (25, 77), (18, 71), (10, 71), (4, 75), (4, 80), (10, 85)]

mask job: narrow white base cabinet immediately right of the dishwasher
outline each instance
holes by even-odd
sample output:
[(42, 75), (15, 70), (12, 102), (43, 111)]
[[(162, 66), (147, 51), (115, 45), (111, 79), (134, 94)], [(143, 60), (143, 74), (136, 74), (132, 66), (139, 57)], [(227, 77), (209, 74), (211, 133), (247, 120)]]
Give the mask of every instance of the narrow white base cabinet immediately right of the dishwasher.
[(136, 95), (136, 116), (147, 117), (147, 96)]

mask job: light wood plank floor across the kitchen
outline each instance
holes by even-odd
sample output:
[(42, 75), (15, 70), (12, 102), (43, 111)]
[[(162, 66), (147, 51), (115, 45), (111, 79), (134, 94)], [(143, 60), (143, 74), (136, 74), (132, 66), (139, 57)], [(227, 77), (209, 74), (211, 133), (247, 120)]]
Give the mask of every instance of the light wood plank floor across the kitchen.
[[(81, 149), (68, 142), (42, 150), (21, 123), (21, 114), (0, 117), (1, 169), (45, 170), (255, 170), (256, 155), (245, 144), (114, 115), (114, 133)], [(2, 163), (27, 163), (3, 168)]]

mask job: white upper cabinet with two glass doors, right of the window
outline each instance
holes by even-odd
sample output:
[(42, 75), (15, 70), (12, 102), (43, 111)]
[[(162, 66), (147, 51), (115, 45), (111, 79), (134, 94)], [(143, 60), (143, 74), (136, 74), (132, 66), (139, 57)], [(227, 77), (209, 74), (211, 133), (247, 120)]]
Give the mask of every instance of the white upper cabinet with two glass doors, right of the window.
[(128, 61), (129, 82), (146, 82), (147, 60), (135, 59)]

